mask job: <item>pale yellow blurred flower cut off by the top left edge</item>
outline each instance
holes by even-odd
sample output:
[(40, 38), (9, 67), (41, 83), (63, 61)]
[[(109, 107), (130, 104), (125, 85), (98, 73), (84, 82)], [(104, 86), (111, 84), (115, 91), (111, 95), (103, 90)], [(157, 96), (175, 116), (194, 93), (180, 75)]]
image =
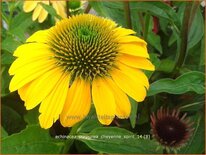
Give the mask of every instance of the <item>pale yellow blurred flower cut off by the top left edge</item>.
[[(48, 12), (42, 7), (40, 3), (49, 5), (49, 1), (25, 1), (23, 5), (23, 10), (25, 12), (31, 12), (34, 10), (32, 15), (32, 20), (38, 19), (39, 23), (42, 23), (48, 15)], [(57, 14), (62, 18), (66, 18), (66, 1), (51, 1), (53, 8), (56, 10)]]

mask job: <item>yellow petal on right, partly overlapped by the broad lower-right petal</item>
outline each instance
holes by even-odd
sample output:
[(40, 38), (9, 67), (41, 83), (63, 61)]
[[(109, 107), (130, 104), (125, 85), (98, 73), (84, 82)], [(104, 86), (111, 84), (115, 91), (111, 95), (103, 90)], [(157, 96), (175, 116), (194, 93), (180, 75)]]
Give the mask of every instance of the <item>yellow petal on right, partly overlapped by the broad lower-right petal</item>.
[(119, 70), (124, 72), (126, 75), (130, 76), (132, 79), (138, 79), (139, 84), (145, 86), (147, 89), (149, 88), (149, 81), (147, 76), (139, 69), (128, 67), (121, 62), (116, 63)]

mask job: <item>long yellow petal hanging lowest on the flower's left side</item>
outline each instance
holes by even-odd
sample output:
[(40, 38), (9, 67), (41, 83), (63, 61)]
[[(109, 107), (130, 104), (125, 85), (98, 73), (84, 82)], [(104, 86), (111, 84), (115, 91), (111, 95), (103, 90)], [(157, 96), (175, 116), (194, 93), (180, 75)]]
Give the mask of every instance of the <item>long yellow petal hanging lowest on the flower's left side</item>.
[(52, 92), (42, 101), (39, 109), (41, 113), (39, 121), (42, 128), (50, 128), (59, 118), (66, 101), (69, 79), (69, 75), (63, 75)]

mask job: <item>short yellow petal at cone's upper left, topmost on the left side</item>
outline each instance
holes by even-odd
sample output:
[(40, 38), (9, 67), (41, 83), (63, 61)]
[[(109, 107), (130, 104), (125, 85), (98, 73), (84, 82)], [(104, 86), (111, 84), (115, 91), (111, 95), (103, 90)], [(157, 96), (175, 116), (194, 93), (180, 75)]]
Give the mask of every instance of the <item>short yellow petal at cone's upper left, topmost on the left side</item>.
[(26, 40), (26, 42), (48, 43), (50, 29), (35, 32)]

